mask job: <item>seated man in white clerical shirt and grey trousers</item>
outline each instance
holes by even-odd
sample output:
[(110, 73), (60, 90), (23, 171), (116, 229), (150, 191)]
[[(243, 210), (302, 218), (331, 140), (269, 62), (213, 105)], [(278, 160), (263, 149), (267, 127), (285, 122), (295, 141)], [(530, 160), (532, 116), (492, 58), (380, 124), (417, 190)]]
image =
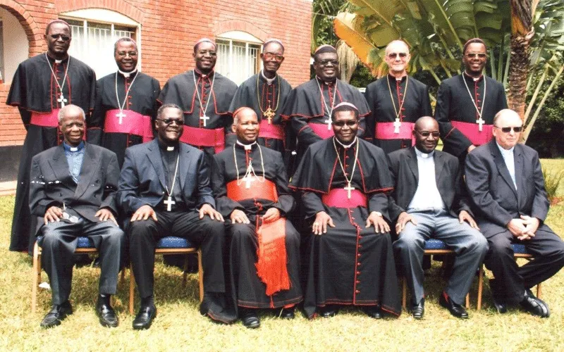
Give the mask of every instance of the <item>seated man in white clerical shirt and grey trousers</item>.
[(458, 158), (436, 150), (439, 124), (431, 117), (415, 122), (415, 146), (390, 153), (395, 182), (390, 218), (396, 222), (393, 243), (412, 296), (415, 319), (424, 315), (422, 260), (425, 241), (440, 239), (455, 251), (452, 274), (439, 304), (457, 318), (468, 318), (462, 303), (488, 248), (472, 218)]

